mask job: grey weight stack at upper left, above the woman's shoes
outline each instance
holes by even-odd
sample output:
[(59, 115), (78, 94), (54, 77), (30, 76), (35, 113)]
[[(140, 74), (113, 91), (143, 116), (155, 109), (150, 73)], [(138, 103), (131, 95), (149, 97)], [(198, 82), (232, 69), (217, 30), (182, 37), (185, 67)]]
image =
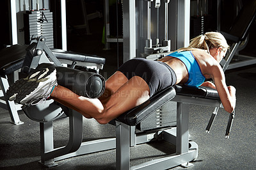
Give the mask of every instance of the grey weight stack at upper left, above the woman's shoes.
[(47, 46), (54, 48), (52, 12), (39, 10), (24, 13), (24, 36), (26, 44), (30, 44), (32, 36), (45, 36)]

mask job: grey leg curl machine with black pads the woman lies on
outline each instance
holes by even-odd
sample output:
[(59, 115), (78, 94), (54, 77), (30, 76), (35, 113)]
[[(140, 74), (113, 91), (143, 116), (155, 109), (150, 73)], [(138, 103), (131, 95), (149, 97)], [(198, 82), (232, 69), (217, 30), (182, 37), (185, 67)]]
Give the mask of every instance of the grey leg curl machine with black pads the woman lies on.
[[(39, 38), (37, 45), (34, 44), (33, 48), (30, 48), (32, 46), (29, 45), (26, 58), (23, 58), (23, 63), (29, 61), (28, 63), (31, 63), (31, 65), (36, 64), (34, 58), (40, 63), (43, 58), (47, 59), (45, 55), (47, 54), (52, 58), (54, 63), (56, 62), (60, 65), (55, 56), (61, 56), (61, 54), (58, 53), (58, 55), (54, 56), (51, 50), (47, 49), (46, 45), (42, 45), (40, 49), (40, 40), (42, 39)], [(42, 50), (42, 52), (38, 52), (38, 50)], [(29, 56), (28, 53), (33, 55)], [(84, 56), (69, 54), (68, 52), (64, 52), (65, 57), (62, 56), (62, 58), (67, 59), (72, 55), (74, 55), (72, 57), (73, 60), (78, 56), (76, 59), (79, 61), (89, 61), (97, 63), (98, 65), (104, 64), (104, 59), (102, 58), (93, 58), (90, 56), (89, 59), (86, 59)], [(60, 56), (58, 56), (58, 58), (61, 58)], [(30, 58), (30, 60), (28, 58)], [(17, 60), (17, 62), (19, 63), (19, 60)], [(13, 61), (13, 63), (15, 63), (15, 61)], [(49, 61), (46, 63), (49, 63)], [(23, 65), (23, 70), (29, 69), (31, 69), (31, 67), (24, 67)], [(4, 70), (1, 70), (2, 73), (4, 73), (3, 71)], [(177, 102), (177, 127), (158, 128), (137, 134), (136, 125), (170, 100)], [(169, 87), (151, 97), (147, 102), (131, 109), (131, 111), (125, 112), (120, 117), (111, 121), (110, 124), (116, 127), (115, 138), (97, 139), (83, 143), (82, 114), (65, 107), (60, 107), (60, 105), (55, 104), (52, 100), (47, 100), (44, 105), (39, 104), (31, 107), (23, 107), (22, 109), (29, 118), (40, 122), (40, 162), (44, 166), (57, 166), (58, 164), (56, 162), (58, 160), (116, 148), (116, 169), (168, 169), (179, 165), (189, 166), (190, 164), (188, 162), (194, 160), (198, 155), (198, 145), (193, 141), (189, 141), (189, 104), (221, 107), (220, 98), (215, 89), (204, 87), (194, 88), (189, 86)], [(60, 148), (54, 148), (52, 121), (60, 118), (64, 111), (69, 117), (70, 130), (68, 144)], [(230, 116), (227, 132), (230, 132), (232, 118), (234, 118), (234, 116)], [(212, 123), (212, 119), (210, 122)], [(211, 127), (211, 125), (209, 126)], [(174, 144), (176, 146), (176, 153), (131, 167), (130, 147), (152, 140), (164, 140)]]

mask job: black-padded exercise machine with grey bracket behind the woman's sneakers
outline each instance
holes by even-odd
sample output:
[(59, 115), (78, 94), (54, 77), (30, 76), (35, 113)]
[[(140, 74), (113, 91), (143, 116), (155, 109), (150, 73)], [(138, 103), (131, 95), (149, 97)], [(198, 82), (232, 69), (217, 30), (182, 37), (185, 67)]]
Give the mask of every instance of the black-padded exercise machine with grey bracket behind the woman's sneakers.
[[(45, 45), (46, 38), (40, 36), (35, 38), (31, 45), (12, 45), (6, 49), (1, 50), (1, 89), (3, 91), (3, 100), (1, 99), (1, 107), (8, 109), (11, 123), (20, 125), (23, 122), (19, 119), (18, 111), (21, 110), (21, 105), (15, 104), (15, 102), (8, 101), (5, 98), (5, 93), (9, 88), (9, 83), (13, 83), (13, 79), (10, 79), (10, 75), (17, 71), (22, 70), (23, 75), (29, 72), (29, 69), (36, 68), (40, 63), (55, 63), (57, 66), (75, 65), (86, 66), (86, 69), (90, 69), (93, 72), (99, 73), (99, 70), (103, 68), (105, 59), (95, 55), (80, 54), (77, 52), (67, 52), (60, 49), (49, 49)], [(61, 62), (60, 62), (61, 61)], [(24, 64), (26, 63), (26, 64)], [(85, 69), (85, 70), (86, 70)]]

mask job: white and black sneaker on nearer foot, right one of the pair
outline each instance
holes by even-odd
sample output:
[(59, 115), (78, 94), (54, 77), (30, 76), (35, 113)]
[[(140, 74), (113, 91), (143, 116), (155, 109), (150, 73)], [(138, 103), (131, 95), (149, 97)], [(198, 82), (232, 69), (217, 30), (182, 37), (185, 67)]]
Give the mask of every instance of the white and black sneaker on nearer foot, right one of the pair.
[(39, 99), (49, 98), (52, 89), (58, 85), (56, 69), (42, 68), (24, 79), (25, 83), (16, 95), (19, 104), (31, 104)]

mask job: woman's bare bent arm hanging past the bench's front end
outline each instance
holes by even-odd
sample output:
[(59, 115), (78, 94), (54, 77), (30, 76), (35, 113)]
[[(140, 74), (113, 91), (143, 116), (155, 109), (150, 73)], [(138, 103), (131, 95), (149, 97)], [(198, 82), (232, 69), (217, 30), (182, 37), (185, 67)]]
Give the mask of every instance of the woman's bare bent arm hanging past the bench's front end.
[(233, 86), (226, 85), (225, 74), (219, 65), (211, 66), (212, 70), (212, 79), (214, 79), (214, 83), (218, 94), (220, 96), (221, 102), (225, 111), (232, 112), (236, 107), (236, 88)]

